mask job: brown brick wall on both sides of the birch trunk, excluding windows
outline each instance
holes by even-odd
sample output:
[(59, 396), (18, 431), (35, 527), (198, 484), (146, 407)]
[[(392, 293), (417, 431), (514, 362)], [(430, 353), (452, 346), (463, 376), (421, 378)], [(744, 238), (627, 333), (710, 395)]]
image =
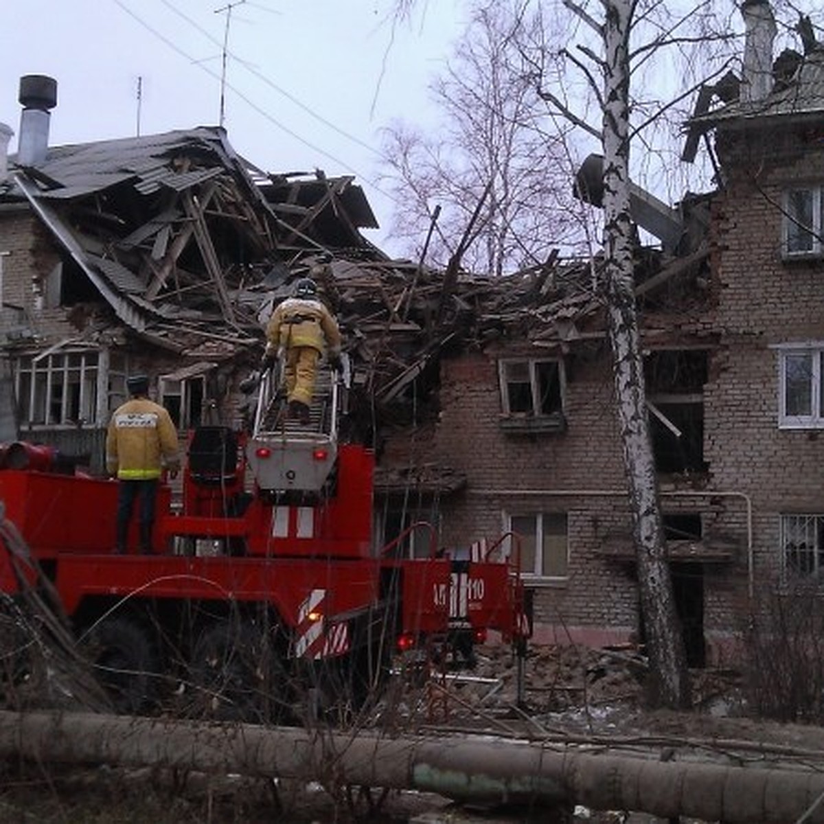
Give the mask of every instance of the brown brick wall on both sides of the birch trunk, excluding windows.
[[(662, 480), (662, 508), (700, 514), (706, 541), (736, 547), (697, 567), (710, 659), (740, 629), (747, 592), (775, 581), (780, 513), (824, 513), (824, 436), (778, 428), (775, 349), (824, 341), (824, 263), (782, 260), (780, 213), (790, 181), (824, 182), (824, 143), (782, 129), (766, 137), (722, 134), (718, 147), (726, 188), (713, 204), (709, 293), (700, 311), (693, 304), (689, 313), (647, 318), (658, 344), (704, 340), (709, 349), (709, 471)], [(630, 555), (613, 551), (631, 541), (610, 355), (602, 347), (576, 360), (566, 430), (530, 436), (499, 425), (497, 359), (523, 354), (541, 356), (511, 341), (442, 363), (433, 459), (468, 480), (442, 501), (443, 540), (466, 545), (497, 536), (503, 513), (514, 510), (567, 513), (569, 578), (536, 583), (536, 620), (547, 637), (626, 637), (637, 623), (637, 587)]]

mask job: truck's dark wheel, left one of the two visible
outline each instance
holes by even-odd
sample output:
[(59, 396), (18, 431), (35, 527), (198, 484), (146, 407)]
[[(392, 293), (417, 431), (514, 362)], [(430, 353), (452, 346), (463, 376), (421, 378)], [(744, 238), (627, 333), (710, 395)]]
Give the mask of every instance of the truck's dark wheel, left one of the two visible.
[(81, 644), (115, 712), (137, 714), (151, 705), (160, 667), (148, 631), (137, 619), (104, 618), (82, 635)]

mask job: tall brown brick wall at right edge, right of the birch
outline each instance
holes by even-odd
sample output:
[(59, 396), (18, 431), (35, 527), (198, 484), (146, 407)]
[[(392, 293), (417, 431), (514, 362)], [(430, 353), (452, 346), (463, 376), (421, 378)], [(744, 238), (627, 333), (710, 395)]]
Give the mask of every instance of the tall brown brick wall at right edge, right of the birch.
[(824, 183), (824, 143), (784, 127), (720, 134), (717, 148), (728, 180), (714, 207), (723, 345), (705, 391), (706, 451), (713, 485), (751, 501), (757, 591), (775, 581), (780, 514), (824, 513), (824, 438), (778, 427), (775, 349), (824, 341), (824, 261), (782, 260), (780, 208), (786, 187)]

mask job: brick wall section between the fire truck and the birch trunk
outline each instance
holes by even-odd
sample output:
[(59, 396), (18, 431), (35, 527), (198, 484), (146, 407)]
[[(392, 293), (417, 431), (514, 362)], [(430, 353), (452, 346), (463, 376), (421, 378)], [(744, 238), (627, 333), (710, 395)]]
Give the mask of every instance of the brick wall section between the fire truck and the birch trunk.
[(566, 385), (563, 433), (516, 435), (500, 427), (497, 358), (504, 354), (471, 353), (442, 364), (437, 449), (468, 479), (465, 492), (443, 504), (444, 540), (466, 545), (499, 536), (506, 512), (567, 513), (569, 578), (535, 585), (539, 635), (625, 638), (636, 624), (634, 580), (630, 565), (603, 552), (608, 522), (630, 528), (608, 361), (576, 364)]

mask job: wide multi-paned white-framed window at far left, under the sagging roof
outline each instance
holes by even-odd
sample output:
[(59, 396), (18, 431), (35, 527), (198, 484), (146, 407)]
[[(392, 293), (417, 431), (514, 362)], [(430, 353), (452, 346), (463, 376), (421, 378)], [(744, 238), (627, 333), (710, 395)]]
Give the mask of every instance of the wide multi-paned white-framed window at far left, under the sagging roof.
[(21, 422), (29, 426), (91, 426), (97, 420), (99, 353), (26, 355), (14, 362)]

